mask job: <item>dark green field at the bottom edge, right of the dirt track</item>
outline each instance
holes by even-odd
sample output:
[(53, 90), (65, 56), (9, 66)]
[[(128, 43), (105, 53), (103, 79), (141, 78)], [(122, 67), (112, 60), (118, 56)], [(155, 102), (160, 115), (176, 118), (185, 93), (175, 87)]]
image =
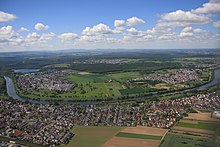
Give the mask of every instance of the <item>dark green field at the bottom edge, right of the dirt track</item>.
[(160, 147), (211, 147), (211, 139), (167, 133)]

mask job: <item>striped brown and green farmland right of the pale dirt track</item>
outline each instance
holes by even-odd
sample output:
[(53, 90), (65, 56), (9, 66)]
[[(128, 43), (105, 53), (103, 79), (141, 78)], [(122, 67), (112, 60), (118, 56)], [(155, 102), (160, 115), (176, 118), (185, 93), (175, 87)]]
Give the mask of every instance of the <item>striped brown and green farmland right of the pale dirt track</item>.
[(160, 147), (216, 146), (219, 126), (219, 119), (212, 118), (210, 113), (189, 113), (171, 128)]

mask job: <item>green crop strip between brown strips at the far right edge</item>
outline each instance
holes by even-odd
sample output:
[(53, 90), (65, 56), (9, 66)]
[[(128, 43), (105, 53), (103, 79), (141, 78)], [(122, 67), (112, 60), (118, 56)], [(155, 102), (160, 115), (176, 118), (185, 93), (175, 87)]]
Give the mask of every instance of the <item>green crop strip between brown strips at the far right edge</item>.
[(185, 122), (178, 122), (176, 126), (186, 127), (186, 128), (195, 128), (195, 129), (204, 129), (204, 130), (212, 130), (215, 131), (218, 128), (219, 123), (213, 122), (199, 122), (198, 124), (191, 124)]

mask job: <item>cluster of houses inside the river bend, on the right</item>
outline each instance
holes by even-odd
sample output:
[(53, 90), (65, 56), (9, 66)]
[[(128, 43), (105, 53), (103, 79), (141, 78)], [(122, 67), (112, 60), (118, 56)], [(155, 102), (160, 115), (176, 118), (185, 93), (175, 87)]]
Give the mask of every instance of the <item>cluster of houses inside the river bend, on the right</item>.
[(170, 72), (170, 73), (156, 75), (156, 76), (135, 78), (135, 79), (130, 80), (129, 82), (151, 80), (151, 81), (162, 81), (168, 84), (178, 84), (178, 83), (183, 83), (187, 81), (198, 80), (199, 72), (201, 72), (200, 69), (179, 69), (176, 72)]

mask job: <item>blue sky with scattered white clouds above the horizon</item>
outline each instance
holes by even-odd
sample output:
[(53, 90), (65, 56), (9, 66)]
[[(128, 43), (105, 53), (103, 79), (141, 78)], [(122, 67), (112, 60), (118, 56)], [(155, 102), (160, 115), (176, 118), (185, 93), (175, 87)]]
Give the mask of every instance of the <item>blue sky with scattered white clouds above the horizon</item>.
[(219, 13), (219, 0), (0, 0), (0, 51), (219, 48)]

